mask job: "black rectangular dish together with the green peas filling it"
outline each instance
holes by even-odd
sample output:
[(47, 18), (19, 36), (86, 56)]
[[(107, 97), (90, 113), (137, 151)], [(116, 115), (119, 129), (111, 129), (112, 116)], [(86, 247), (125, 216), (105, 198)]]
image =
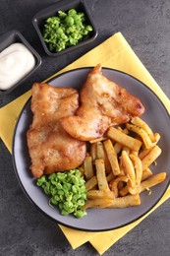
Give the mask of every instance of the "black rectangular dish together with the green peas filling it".
[(39, 11), (32, 24), (49, 56), (92, 42), (97, 31), (83, 0), (59, 1)]

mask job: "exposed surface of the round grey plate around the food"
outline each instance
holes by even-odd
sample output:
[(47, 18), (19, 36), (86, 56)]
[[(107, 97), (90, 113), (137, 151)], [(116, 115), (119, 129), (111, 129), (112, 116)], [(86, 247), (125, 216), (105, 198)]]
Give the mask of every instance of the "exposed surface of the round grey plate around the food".
[[(64, 73), (51, 80), (49, 84), (54, 87), (73, 87), (79, 90), (84, 84), (90, 69), (83, 68)], [(153, 187), (150, 196), (146, 192), (142, 192), (141, 206), (126, 209), (89, 209), (87, 210), (87, 216), (83, 219), (76, 219), (72, 216), (63, 217), (60, 215), (57, 207), (51, 208), (48, 205), (49, 198), (35, 185), (35, 179), (28, 170), (30, 160), (28, 157), (26, 133), (32, 118), (30, 99), (28, 99), (19, 117), (13, 140), (13, 161), (16, 173), (20, 184), (31, 202), (44, 214), (56, 221), (56, 223), (88, 231), (110, 230), (131, 224), (140, 219), (163, 196), (168, 187), (170, 175), (170, 118), (164, 105), (142, 82), (132, 76), (113, 69), (103, 68), (102, 70), (103, 74), (110, 80), (121, 85), (134, 96), (141, 98), (145, 106), (145, 113), (142, 115), (142, 119), (150, 125), (154, 132), (161, 134), (159, 147), (162, 149), (162, 154), (157, 160), (157, 165), (152, 165), (151, 169), (153, 173), (166, 170), (167, 179), (165, 182)]]

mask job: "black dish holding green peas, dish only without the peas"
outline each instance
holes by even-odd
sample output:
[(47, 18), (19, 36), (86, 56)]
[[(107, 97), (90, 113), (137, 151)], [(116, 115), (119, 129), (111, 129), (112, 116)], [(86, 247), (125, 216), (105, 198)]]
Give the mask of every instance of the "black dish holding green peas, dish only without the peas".
[[(90, 35), (87, 39), (79, 42), (77, 45), (74, 46), (70, 46), (62, 51), (58, 51), (58, 52), (51, 52), (47, 46), (47, 44), (45, 43), (44, 39), (43, 39), (43, 27), (45, 24), (45, 21), (47, 18), (52, 17), (52, 16), (56, 16), (58, 11), (63, 11), (63, 12), (67, 12), (70, 9), (76, 9), (78, 12), (84, 12), (85, 13), (85, 17), (86, 17), (86, 21), (89, 25), (91, 25), (91, 27), (93, 28), (93, 31), (90, 32)], [(73, 0), (73, 1), (68, 1), (68, 0), (62, 0), (59, 1), (51, 6), (48, 6), (47, 8), (39, 11), (32, 20), (32, 24), (40, 38), (40, 41), (43, 45), (43, 48), (45, 50), (45, 52), (50, 55), (50, 56), (59, 56), (63, 53), (67, 53), (70, 52), (71, 50), (77, 49), (79, 47), (84, 46), (85, 44), (93, 41), (97, 35), (97, 31), (95, 29), (95, 26), (92, 22), (91, 16), (85, 6), (85, 2), (83, 0)]]

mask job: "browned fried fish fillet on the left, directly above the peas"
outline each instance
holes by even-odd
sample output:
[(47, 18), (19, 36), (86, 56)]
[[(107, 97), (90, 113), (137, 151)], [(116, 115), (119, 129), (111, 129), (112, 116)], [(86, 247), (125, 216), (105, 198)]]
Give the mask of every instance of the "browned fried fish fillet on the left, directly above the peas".
[(85, 142), (70, 136), (59, 119), (74, 115), (79, 94), (72, 88), (32, 86), (32, 123), (27, 133), (30, 170), (34, 177), (78, 167), (85, 159)]

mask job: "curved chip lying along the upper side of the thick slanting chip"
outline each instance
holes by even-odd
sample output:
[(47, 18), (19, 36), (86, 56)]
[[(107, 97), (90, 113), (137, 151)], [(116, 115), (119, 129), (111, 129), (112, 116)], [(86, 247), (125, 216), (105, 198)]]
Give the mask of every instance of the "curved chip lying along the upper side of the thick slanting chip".
[(130, 124), (130, 123), (127, 123), (126, 127), (128, 130), (133, 131), (141, 136), (145, 149), (150, 149), (151, 147), (153, 147), (153, 144), (148, 134), (141, 127), (136, 126), (134, 124)]

